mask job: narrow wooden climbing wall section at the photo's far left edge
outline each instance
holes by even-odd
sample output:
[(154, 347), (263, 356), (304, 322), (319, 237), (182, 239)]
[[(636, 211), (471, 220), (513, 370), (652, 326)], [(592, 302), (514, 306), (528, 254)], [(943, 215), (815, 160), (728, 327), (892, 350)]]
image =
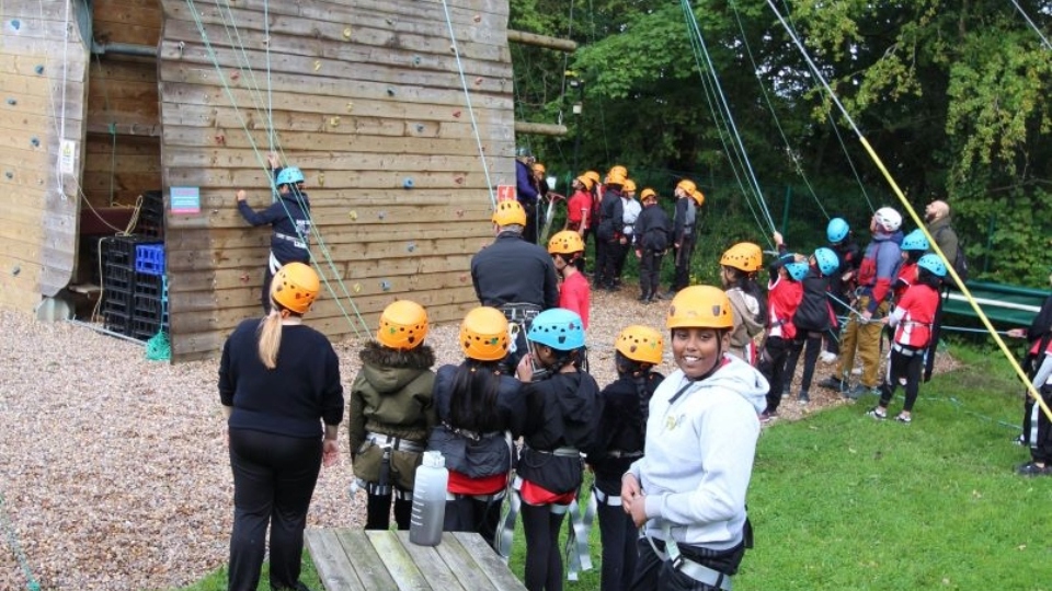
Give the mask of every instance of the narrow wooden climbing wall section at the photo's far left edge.
[[(88, 44), (81, 1), (0, 12), (0, 306), (32, 312), (76, 266)], [(64, 144), (64, 140), (67, 142)]]

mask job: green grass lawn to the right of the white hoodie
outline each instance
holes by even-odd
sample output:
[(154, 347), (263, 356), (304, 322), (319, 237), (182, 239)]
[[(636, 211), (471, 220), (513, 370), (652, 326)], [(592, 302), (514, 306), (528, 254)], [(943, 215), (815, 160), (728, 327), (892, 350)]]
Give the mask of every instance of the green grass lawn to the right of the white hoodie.
[[(867, 397), (764, 430), (748, 498), (756, 547), (735, 589), (1052, 590), (1052, 478), (1014, 473), (1029, 459), (1009, 442), (1021, 389), (999, 352), (953, 355), (961, 369), (922, 386), (912, 425), (865, 416)], [(890, 416), (901, 404), (900, 390)], [(597, 569), (597, 530), (592, 548)], [(517, 535), (519, 577), (524, 553)], [(312, 568), (304, 580), (321, 589)], [(597, 590), (598, 572), (565, 588)]]

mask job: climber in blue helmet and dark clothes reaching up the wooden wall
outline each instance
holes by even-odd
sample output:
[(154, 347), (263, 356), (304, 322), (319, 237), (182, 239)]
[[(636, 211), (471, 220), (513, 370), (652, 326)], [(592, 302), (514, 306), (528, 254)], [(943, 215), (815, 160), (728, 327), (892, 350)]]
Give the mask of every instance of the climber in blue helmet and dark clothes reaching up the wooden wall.
[(274, 228), (271, 235), (271, 255), (263, 275), (263, 289), (260, 301), (263, 313), (271, 311), (271, 280), (283, 265), (289, 263), (310, 263), (310, 201), (304, 192), (304, 173), (296, 166), (277, 167), (277, 159), (271, 154), (274, 167), (274, 183), (277, 186), (277, 199), (263, 211), (255, 211), (248, 204), (244, 189), (238, 192), (238, 211), (244, 221), (252, 225), (270, 224)]

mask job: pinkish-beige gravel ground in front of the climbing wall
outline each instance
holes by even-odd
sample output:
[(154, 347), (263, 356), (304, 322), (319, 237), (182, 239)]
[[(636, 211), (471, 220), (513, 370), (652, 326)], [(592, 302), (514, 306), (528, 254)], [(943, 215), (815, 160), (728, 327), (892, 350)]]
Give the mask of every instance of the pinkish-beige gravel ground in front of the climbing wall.
[[(590, 358), (601, 385), (614, 380), (624, 326), (664, 332), (666, 305), (634, 298), (627, 287), (593, 294)], [(221, 566), (233, 487), (217, 360), (150, 362), (141, 346), (13, 312), (0, 312), (0, 589), (25, 588), (26, 569), (43, 589), (165, 589)], [(456, 334), (454, 325), (433, 328), (439, 363), (458, 361)], [(336, 344), (345, 384), (357, 349)], [(815, 387), (805, 408), (787, 401), (782, 420), (838, 404)], [(351, 477), (344, 450), (322, 470), (309, 525), (363, 523), (362, 494), (347, 496)]]

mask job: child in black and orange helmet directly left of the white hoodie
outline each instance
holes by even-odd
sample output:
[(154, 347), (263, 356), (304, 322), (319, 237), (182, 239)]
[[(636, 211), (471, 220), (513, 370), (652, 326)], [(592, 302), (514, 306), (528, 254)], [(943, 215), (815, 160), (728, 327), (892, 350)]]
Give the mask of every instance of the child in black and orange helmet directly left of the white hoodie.
[(661, 363), (664, 339), (648, 326), (629, 326), (614, 345), (617, 381), (603, 389), (599, 451), (588, 455), (595, 472), (592, 498), (599, 518), (603, 542), (603, 591), (627, 591), (636, 572), (632, 518), (621, 508), (621, 476), (643, 456), (648, 408), (664, 375), (651, 371)]

